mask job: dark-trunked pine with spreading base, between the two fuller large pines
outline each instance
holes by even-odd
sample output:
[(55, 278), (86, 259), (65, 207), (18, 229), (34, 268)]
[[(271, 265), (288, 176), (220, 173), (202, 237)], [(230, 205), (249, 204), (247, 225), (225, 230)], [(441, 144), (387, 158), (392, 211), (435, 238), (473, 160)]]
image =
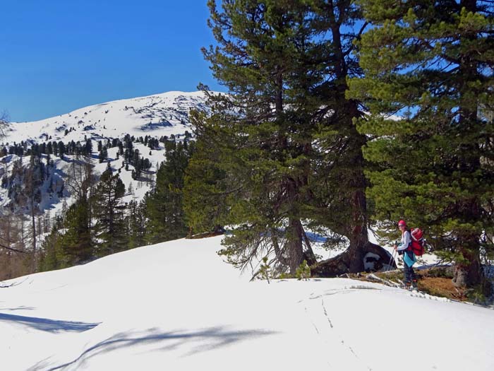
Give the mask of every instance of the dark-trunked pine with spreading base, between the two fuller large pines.
[(313, 27), (327, 35), (327, 80), (318, 90), (323, 95), (318, 113), (324, 117), (313, 137), (311, 200), (306, 214), (311, 218), (309, 226), (328, 236), (327, 247), (347, 247), (343, 254), (313, 269), (318, 276), (336, 276), (363, 271), (368, 252), (382, 261), (389, 261), (389, 254), (368, 240), (364, 173), (368, 164), (362, 153), (368, 139), (354, 124), (363, 116), (361, 102), (346, 96), (348, 79), (363, 76), (355, 43), (368, 23), (355, 1), (314, 1), (313, 11)]

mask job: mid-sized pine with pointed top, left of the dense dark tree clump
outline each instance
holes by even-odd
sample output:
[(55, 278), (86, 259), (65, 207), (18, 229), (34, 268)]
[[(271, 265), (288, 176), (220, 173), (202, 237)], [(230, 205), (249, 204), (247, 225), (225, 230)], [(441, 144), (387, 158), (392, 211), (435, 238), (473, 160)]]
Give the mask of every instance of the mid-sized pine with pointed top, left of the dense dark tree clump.
[(125, 223), (123, 196), (125, 185), (118, 173), (113, 174), (108, 165), (97, 184), (94, 194), (94, 218), (97, 239), (97, 256), (123, 251), (127, 247), (128, 235)]

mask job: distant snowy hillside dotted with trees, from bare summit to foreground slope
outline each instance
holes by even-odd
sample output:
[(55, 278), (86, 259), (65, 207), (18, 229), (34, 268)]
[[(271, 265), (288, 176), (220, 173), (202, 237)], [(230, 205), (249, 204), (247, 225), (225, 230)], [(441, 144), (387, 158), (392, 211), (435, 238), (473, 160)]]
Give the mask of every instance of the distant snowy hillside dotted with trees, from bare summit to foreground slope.
[[(145, 206), (141, 201), (155, 189), (157, 170), (167, 160), (166, 155), (192, 153), (192, 108), (207, 110), (203, 92), (168, 92), (116, 100), (37, 122), (8, 124), (6, 135), (0, 138), (0, 279), (71, 266), (80, 263), (80, 259), (95, 257), (95, 245), (103, 243), (97, 237), (98, 220), (104, 219), (103, 212), (113, 213), (108, 204), (100, 219), (92, 213), (97, 193), (102, 196), (98, 191), (102, 187), (100, 178), (107, 169), (112, 170), (115, 182), (118, 178), (121, 183), (118, 198), (111, 201), (120, 210), (121, 235), (130, 236), (131, 225), (134, 231), (140, 228), (142, 223), (138, 225), (131, 219), (144, 220)], [(165, 172), (171, 173), (164, 170), (160, 174)], [(72, 225), (91, 228), (92, 241), (84, 246), (92, 248), (90, 254), (71, 261), (68, 255), (73, 254), (73, 249), (68, 246), (77, 244), (67, 242), (65, 252), (61, 252), (61, 239), (57, 238), (70, 235), (66, 218), (75, 215), (69, 211), (78, 207), (75, 204), (82, 195), (90, 196), (91, 210), (85, 221)], [(110, 220), (113, 223), (114, 218)], [(145, 229), (140, 230), (138, 239), (128, 237), (124, 242), (122, 237), (121, 247), (112, 247), (109, 252), (142, 246)], [(185, 235), (183, 228), (176, 230), (177, 235), (161, 240)], [(49, 235), (56, 235), (49, 247), (52, 257), (57, 258), (53, 260), (56, 263), (45, 266), (42, 259), (48, 247), (44, 242)], [(100, 256), (109, 252), (100, 252)]]

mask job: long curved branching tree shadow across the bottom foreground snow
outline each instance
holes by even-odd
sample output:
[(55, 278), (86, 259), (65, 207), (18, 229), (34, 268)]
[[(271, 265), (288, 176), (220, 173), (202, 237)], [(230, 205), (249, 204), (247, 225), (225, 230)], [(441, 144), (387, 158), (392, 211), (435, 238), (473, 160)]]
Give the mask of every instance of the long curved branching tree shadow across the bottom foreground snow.
[[(227, 331), (223, 327), (212, 327), (200, 331), (169, 331), (159, 332), (157, 329), (148, 329), (141, 333), (120, 333), (107, 338), (100, 343), (91, 346), (81, 353), (78, 358), (71, 360), (63, 365), (48, 368), (47, 371), (61, 370), (65, 367), (82, 365), (97, 355), (109, 353), (121, 348), (130, 348), (132, 346), (142, 346), (153, 344), (159, 346), (155, 351), (172, 351), (186, 343), (195, 343), (195, 346), (185, 354), (185, 356), (193, 355), (204, 351), (210, 351), (222, 346), (228, 346), (239, 341), (248, 340), (248, 338), (257, 338), (259, 336), (267, 336), (275, 334), (273, 331), (265, 330), (243, 330), (243, 331)], [(30, 367), (29, 371), (36, 371), (47, 367), (47, 360)]]

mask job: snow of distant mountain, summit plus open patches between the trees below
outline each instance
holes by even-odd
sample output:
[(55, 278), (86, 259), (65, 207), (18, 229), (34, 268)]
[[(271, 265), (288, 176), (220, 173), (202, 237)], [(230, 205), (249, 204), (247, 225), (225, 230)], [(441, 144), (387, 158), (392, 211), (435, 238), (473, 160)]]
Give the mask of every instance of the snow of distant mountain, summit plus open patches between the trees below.
[[(143, 179), (133, 179), (131, 173), (132, 165), (124, 166), (122, 159), (116, 154), (118, 148), (108, 148), (108, 158), (104, 163), (98, 161), (97, 142), (107, 143), (112, 139), (123, 139), (127, 134), (136, 139), (144, 136), (161, 138), (162, 136), (174, 135), (176, 138), (183, 138), (188, 131), (191, 133), (189, 112), (192, 108), (207, 110), (205, 105), (205, 94), (203, 92), (185, 93), (171, 91), (147, 97), (115, 100), (113, 102), (102, 103), (80, 108), (67, 114), (57, 117), (43, 119), (36, 122), (12, 122), (5, 130), (6, 137), (0, 141), (0, 150), (13, 143), (27, 142), (27, 146), (33, 143), (48, 143), (62, 141), (66, 145), (80, 141), (85, 143), (86, 139), (91, 139), (92, 165), (95, 175), (100, 175), (107, 164), (119, 171), (119, 175), (128, 189), (132, 185), (133, 195), (128, 195), (126, 201), (132, 197), (142, 199), (152, 184), (152, 176), (157, 170), (157, 165), (164, 160), (163, 143), (150, 151), (145, 143), (135, 141), (133, 148), (138, 150), (142, 158), (147, 158), (152, 164)], [(47, 155), (42, 155), (47, 160)], [(29, 156), (18, 156), (9, 154), (0, 157), (0, 178), (10, 177), (16, 160), (22, 162), (22, 166), (29, 164)], [(64, 155), (59, 158), (52, 155), (54, 168), (47, 170), (47, 177), (41, 186), (40, 204), (38, 206), (42, 213), (52, 212), (52, 216), (61, 210), (63, 204), (70, 205), (72, 202), (71, 192), (64, 187), (70, 167), (73, 163), (72, 155)], [(0, 187), (0, 207), (12, 205), (12, 187), (5, 187), (6, 183)]]

